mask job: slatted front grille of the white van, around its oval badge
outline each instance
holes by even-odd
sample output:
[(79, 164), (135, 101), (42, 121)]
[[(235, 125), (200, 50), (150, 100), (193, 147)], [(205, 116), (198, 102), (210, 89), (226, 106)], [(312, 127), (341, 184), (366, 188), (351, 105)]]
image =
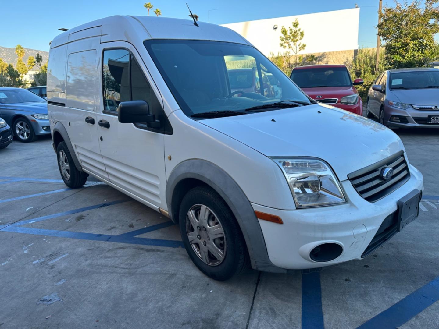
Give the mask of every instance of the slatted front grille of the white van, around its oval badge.
[[(390, 179), (385, 180), (381, 177), (383, 168), (393, 169)], [(348, 178), (363, 199), (375, 202), (407, 182), (410, 172), (403, 151), (400, 151), (391, 157), (350, 173)]]

